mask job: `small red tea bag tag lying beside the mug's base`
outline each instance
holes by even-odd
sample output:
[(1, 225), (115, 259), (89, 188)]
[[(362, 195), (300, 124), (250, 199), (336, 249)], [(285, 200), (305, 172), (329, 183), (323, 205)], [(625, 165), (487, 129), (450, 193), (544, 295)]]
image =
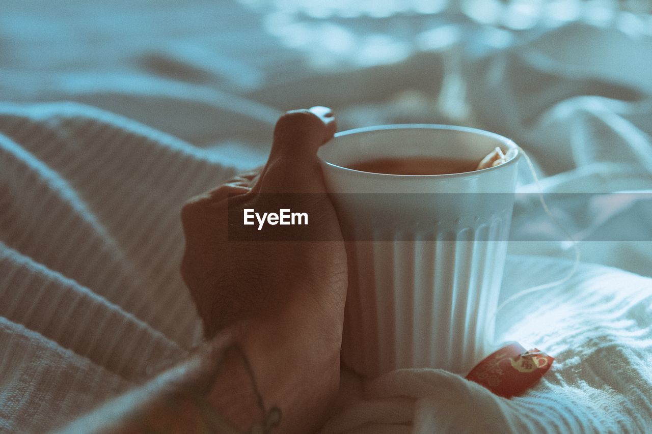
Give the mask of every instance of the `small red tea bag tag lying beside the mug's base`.
[(466, 379), (482, 384), (497, 396), (511, 398), (534, 386), (554, 360), (536, 348), (526, 351), (514, 342), (484, 358)]

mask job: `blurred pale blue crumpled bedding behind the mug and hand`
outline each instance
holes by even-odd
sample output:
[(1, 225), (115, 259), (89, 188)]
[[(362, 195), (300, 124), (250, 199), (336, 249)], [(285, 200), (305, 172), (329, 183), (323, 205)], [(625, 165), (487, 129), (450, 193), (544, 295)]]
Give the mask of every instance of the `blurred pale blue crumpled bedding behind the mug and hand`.
[[(234, 169), (264, 162), (282, 111), (325, 105), (340, 130), (450, 123), (511, 137), (546, 192), (652, 190), (651, 94), (646, 0), (4, 0), (0, 12), (0, 100), (104, 109)], [(652, 227), (641, 206), (559, 218), (588, 240)], [(533, 212), (517, 205), (514, 230), (545, 229)], [(584, 249), (649, 274), (649, 241)]]

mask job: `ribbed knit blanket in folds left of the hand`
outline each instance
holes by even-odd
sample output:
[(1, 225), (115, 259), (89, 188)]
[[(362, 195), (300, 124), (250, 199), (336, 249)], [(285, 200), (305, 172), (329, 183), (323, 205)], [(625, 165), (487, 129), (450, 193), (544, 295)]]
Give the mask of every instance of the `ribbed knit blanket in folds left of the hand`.
[(179, 210), (233, 170), (76, 104), (0, 108), (0, 431), (60, 425), (179, 360)]

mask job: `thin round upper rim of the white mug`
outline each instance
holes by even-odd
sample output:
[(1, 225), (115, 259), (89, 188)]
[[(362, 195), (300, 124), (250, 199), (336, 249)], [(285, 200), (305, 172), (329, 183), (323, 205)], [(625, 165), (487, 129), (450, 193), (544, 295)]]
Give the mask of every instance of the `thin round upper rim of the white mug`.
[[(364, 134), (368, 132), (376, 132), (376, 131), (382, 131), (382, 130), (454, 130), (454, 131), (461, 131), (461, 132), (467, 132), (471, 134), (479, 134), (481, 136), (486, 136), (486, 137), (491, 137), (493, 139), (496, 139), (503, 143), (505, 146), (509, 148), (510, 151), (514, 151), (514, 154), (512, 154), (512, 158), (504, 162), (503, 164), (499, 164), (498, 166), (494, 167), (486, 167), (485, 169), (480, 169), (480, 170), (473, 170), (469, 172), (460, 172), (460, 173), (441, 173), (439, 175), (399, 175), (395, 173), (377, 173), (377, 172), (367, 172), (363, 170), (357, 170), (357, 169), (351, 169), (350, 167), (344, 167), (340, 166), (338, 164), (334, 164), (331, 162), (328, 162), (321, 158), (318, 154), (319, 160), (326, 164), (327, 166), (334, 167), (336, 169), (342, 169), (345, 171), (351, 171), (355, 173), (364, 173), (365, 175), (377, 175), (378, 177), (401, 177), (401, 178), (456, 178), (456, 177), (465, 177), (469, 176), (470, 174), (478, 174), (478, 173), (486, 173), (487, 171), (494, 171), (494, 170), (499, 170), (501, 167), (507, 167), (511, 164), (514, 164), (518, 158), (520, 158), (520, 148), (512, 139), (509, 139), (505, 136), (501, 136), (500, 134), (486, 131), (486, 130), (481, 130), (480, 128), (473, 128), (470, 126), (458, 126), (458, 125), (447, 125), (447, 124), (384, 124), (384, 125), (374, 125), (374, 126), (363, 126), (361, 128), (353, 128), (351, 130), (344, 130), (340, 132), (336, 132), (333, 135), (333, 138), (338, 138), (338, 137), (343, 137), (343, 136), (351, 136), (353, 134)], [(332, 139), (331, 139), (332, 140)], [(329, 141), (331, 141), (329, 140)], [(324, 143), (321, 146), (327, 145), (328, 142)]]

